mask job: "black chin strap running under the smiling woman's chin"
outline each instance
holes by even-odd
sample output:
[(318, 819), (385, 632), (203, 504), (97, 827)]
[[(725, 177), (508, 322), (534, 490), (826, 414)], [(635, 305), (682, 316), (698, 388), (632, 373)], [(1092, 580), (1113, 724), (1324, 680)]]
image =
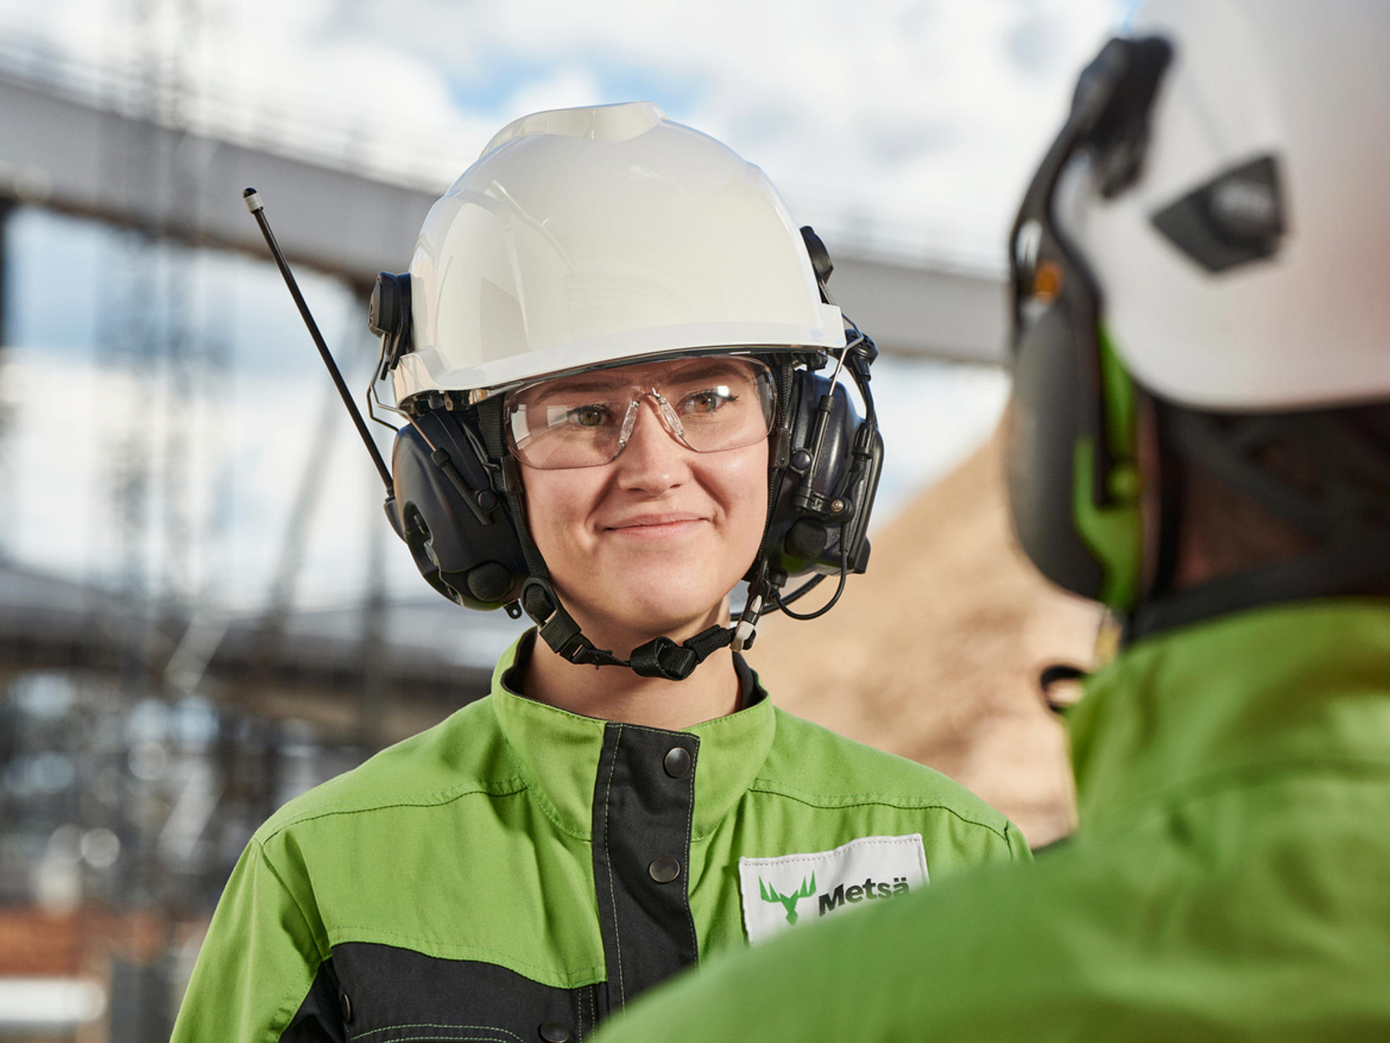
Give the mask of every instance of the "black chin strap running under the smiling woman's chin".
[(541, 549), (531, 540), (531, 530), (527, 528), (525, 510), (521, 505), (521, 474), (502, 439), (502, 398), (499, 395), (485, 398), (478, 403), (478, 427), (482, 428), (488, 456), (498, 467), (496, 474), (500, 477), (498, 492), (502, 494), (512, 515), (530, 573), (525, 583), (521, 584), (521, 609), (535, 623), (541, 640), (556, 655), (580, 666), (626, 666), (642, 677), (682, 681), (705, 662), (710, 652), (728, 645), (733, 645), (734, 651), (739, 651), (753, 642), (753, 629), (758, 626), (766, 595), (766, 563), (759, 566), (758, 579), (749, 584), (748, 604), (734, 627), (712, 626), (681, 644), (676, 644), (664, 636), (653, 637), (634, 648), (631, 659), (623, 659), (613, 655), (610, 649), (595, 645), (584, 636), (574, 616), (566, 612), (564, 605), (560, 604), (560, 595), (556, 594), (550, 583), (550, 570), (545, 565), (545, 558), (541, 556)]

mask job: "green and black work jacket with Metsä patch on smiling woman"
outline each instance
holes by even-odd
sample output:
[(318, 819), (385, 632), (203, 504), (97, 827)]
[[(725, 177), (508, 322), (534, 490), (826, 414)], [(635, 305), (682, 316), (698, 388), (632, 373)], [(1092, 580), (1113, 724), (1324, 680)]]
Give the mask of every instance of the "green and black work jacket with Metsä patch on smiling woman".
[(741, 659), (744, 709), (666, 731), (516, 694), (517, 655), (257, 830), (177, 1043), (578, 1042), (749, 932), (1030, 858), (959, 784), (774, 709)]

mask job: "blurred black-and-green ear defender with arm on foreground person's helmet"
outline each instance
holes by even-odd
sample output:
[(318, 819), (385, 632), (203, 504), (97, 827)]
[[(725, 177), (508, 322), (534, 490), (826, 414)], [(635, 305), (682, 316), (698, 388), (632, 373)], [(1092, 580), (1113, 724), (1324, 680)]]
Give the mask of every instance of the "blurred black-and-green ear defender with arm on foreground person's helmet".
[(1170, 58), (1172, 46), (1158, 38), (1105, 45), (1081, 74), (1072, 113), (1009, 236), (1015, 531), (1049, 580), (1122, 609), (1138, 601), (1144, 570), (1138, 392), (1106, 341), (1099, 286), (1058, 227), (1054, 206), (1062, 174), (1081, 152), (1091, 154), (1106, 197), (1134, 181), (1148, 110)]

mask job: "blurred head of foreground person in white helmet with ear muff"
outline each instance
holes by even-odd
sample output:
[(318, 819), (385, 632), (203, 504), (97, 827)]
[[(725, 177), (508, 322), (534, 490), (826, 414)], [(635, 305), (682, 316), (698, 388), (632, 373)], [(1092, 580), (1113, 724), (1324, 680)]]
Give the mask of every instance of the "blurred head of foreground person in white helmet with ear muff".
[[(1136, 22), (1154, 35), (1081, 74), (1009, 243), (1015, 530), (1130, 637), (1390, 576), (1386, 462), (1364, 477), (1350, 416), (1390, 399), (1390, 302), (1369, 289), (1390, 8), (1154, 0)], [(1277, 444), (1316, 459), (1318, 490), (1264, 464)], [(1175, 591), (1184, 460), (1314, 549)]]

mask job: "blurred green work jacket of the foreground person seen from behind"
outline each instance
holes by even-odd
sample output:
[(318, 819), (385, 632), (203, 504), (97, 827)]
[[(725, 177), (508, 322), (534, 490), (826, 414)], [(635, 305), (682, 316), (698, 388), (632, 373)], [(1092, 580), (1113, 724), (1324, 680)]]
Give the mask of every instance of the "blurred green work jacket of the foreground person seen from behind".
[(1070, 711), (1081, 827), (673, 983), (600, 1043), (1390, 1039), (1390, 601), (1136, 642)]

